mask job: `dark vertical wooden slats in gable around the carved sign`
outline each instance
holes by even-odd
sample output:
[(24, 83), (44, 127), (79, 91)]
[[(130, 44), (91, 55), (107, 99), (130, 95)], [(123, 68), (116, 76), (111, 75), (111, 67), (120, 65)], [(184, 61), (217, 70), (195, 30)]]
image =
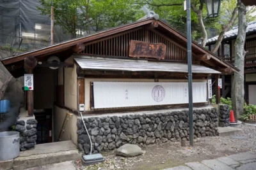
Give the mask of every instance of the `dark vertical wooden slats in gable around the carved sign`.
[[(147, 31), (144, 27), (123, 32), (109, 38), (99, 39), (90, 43), (85, 43), (85, 49), (81, 53), (128, 57), (131, 39), (150, 43), (164, 43), (166, 45), (165, 60), (186, 61), (186, 48), (175, 43), (160, 32)], [(194, 60), (194, 57), (193, 57)]]

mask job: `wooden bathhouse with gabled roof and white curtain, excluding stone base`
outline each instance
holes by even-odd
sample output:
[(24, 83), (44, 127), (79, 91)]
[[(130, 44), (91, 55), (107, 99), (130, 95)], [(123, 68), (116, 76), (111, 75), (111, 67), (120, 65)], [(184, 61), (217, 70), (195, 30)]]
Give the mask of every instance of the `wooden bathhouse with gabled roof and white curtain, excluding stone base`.
[[(147, 18), (1, 62), (15, 77), (33, 73), (34, 90), (26, 92), (28, 115), (45, 110), (44, 124), (53, 137), (45, 140), (58, 141), (68, 111), (74, 115), (61, 140), (77, 143), (81, 104), (84, 115), (187, 108), (186, 46), (186, 36)], [(195, 42), (192, 53), (194, 106), (209, 105), (207, 78), (239, 70)]]

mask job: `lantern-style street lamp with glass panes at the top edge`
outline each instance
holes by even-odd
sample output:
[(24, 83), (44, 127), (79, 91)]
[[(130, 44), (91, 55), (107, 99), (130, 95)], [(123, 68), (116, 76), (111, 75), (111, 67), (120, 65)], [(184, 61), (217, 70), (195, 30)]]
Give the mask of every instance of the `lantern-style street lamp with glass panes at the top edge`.
[(220, 12), (220, 0), (205, 0), (209, 18), (218, 17)]

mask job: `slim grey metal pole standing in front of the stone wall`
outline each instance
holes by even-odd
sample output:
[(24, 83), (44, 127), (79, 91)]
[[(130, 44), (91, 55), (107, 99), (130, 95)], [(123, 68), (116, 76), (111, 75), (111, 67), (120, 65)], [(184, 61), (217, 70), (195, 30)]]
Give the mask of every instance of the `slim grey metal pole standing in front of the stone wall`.
[(194, 145), (193, 132), (193, 93), (192, 93), (192, 56), (191, 56), (191, 4), (187, 0), (187, 41), (188, 41), (188, 103), (189, 103), (189, 144)]

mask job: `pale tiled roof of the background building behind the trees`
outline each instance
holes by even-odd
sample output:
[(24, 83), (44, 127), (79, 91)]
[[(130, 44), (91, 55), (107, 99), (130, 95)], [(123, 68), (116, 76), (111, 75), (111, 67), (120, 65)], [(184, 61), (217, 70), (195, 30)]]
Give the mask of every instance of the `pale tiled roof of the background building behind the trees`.
[[(246, 35), (256, 33), (256, 22), (250, 22), (246, 28)], [(238, 34), (238, 27), (234, 27), (230, 31), (225, 33), (223, 41), (228, 39), (235, 39)], [(207, 45), (216, 43), (219, 36), (214, 36), (212, 38), (207, 39)]]

